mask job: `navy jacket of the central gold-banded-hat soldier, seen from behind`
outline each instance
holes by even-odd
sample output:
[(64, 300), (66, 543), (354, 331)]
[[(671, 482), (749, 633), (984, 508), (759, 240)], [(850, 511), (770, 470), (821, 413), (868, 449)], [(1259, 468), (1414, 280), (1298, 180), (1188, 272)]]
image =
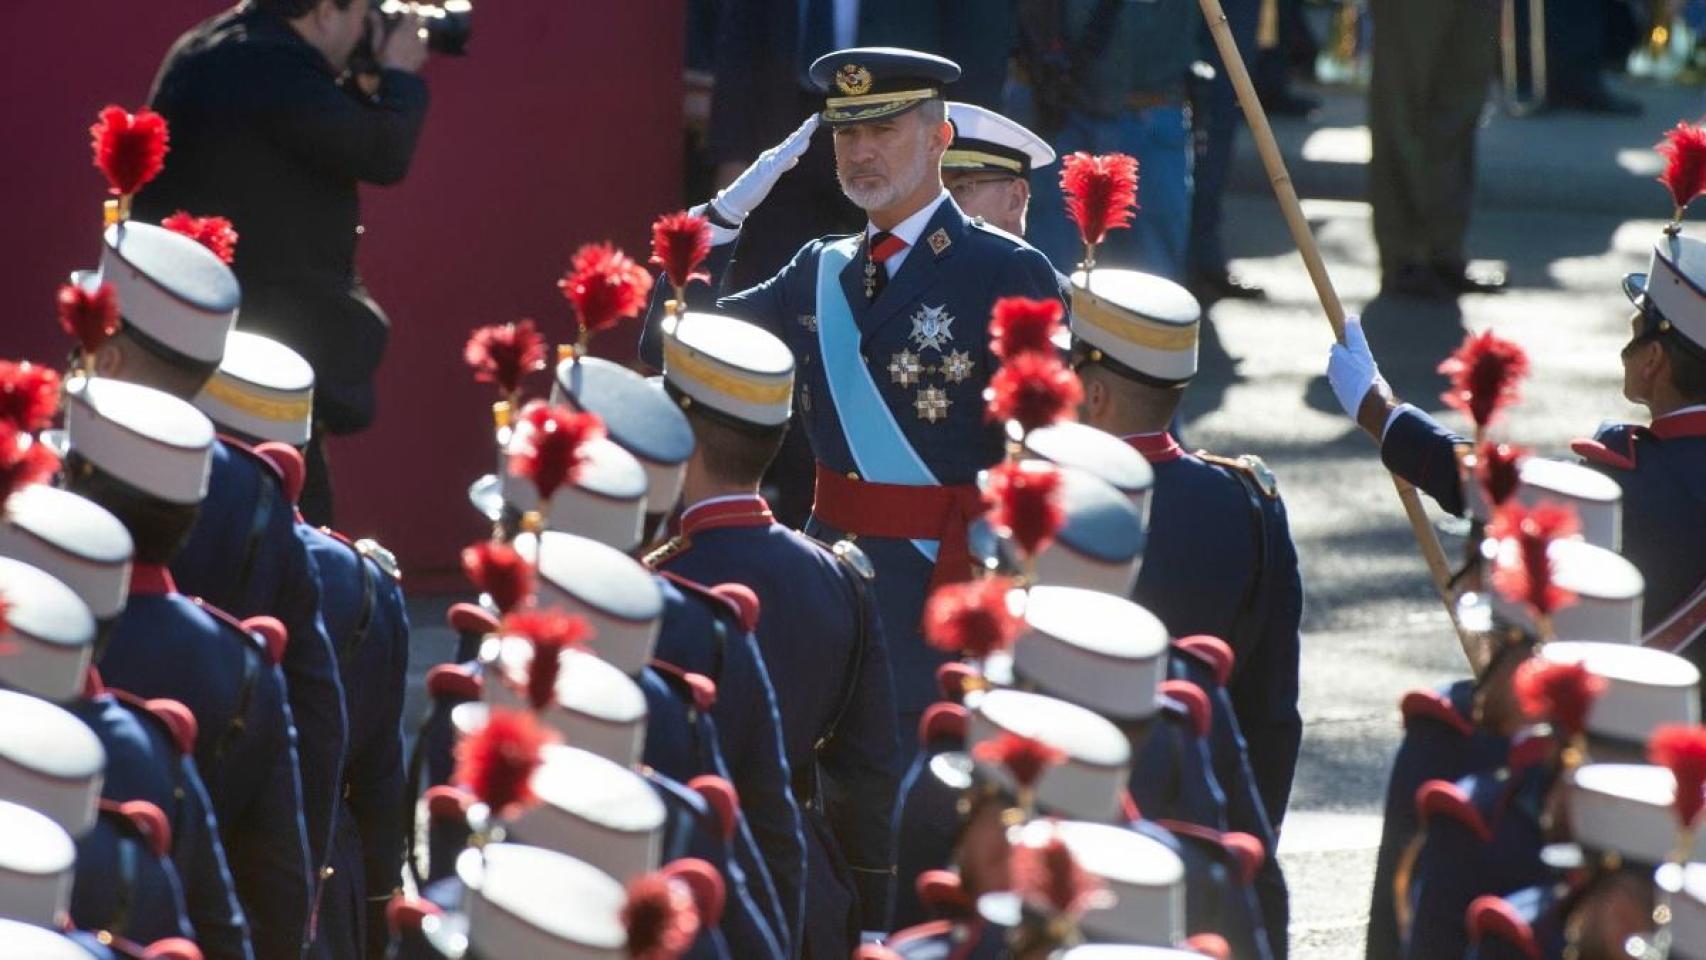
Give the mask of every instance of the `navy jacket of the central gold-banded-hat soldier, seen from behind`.
[(660, 570), (757, 595), (754, 634), (805, 818), (805, 943), (814, 957), (841, 957), (862, 929), (889, 929), (899, 783), (889, 651), (870, 585), (764, 517), (694, 530), (689, 515), (655, 556)]

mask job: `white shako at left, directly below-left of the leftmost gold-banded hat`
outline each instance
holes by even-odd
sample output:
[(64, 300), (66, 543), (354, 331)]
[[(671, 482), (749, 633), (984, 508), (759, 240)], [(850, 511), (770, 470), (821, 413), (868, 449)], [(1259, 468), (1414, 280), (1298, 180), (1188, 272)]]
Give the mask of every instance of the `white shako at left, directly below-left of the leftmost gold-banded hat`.
[(213, 423), (171, 394), (73, 377), (65, 387), (65, 435), (73, 454), (148, 496), (188, 506), (208, 493)]

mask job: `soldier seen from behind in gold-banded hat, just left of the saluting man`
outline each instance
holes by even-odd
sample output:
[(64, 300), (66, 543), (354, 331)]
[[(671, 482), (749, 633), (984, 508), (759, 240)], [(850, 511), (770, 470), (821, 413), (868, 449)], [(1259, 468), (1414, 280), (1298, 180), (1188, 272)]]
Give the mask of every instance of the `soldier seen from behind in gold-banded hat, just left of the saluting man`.
[(756, 636), (776, 687), (805, 818), (805, 957), (846, 957), (885, 929), (894, 883), (894, 685), (868, 561), (776, 523), (757, 493), (788, 430), (793, 356), (730, 317), (665, 321), (664, 389), (696, 438), (681, 534), (647, 564), (757, 595)]

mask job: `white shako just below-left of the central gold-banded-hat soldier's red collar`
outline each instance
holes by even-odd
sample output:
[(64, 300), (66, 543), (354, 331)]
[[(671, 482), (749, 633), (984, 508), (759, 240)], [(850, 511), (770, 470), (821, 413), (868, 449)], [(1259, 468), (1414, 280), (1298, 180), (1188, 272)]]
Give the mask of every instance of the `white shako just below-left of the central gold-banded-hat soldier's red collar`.
[(636, 677), (652, 662), (664, 617), (664, 590), (640, 561), (575, 534), (515, 537), (534, 561), (537, 604), (578, 614), (595, 631), (587, 648)]

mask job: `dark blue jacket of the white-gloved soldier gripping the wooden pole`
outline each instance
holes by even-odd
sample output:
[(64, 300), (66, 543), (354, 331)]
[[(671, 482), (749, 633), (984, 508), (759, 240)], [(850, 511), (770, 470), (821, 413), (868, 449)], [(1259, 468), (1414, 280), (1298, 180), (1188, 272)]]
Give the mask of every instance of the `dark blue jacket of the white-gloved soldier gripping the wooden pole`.
[[(1442, 510), (1462, 515), (1455, 448), (1469, 443), (1426, 413), (1404, 406), (1380, 440), (1380, 460)], [(1571, 443), (1583, 462), (1622, 488), (1622, 554), (1646, 580), (1641, 629), (1648, 631), (1706, 583), (1706, 411), (1675, 413), (1651, 426), (1602, 426)], [(1706, 663), (1706, 645), (1682, 650)]]

